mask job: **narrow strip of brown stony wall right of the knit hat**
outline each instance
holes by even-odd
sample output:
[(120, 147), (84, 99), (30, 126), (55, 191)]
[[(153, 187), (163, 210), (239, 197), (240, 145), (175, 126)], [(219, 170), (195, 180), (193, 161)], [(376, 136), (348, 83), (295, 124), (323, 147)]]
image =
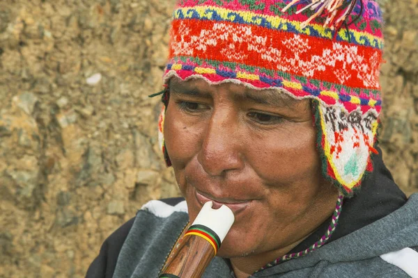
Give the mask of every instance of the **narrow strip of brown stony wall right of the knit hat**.
[(380, 146), (399, 186), (418, 191), (418, 1), (385, 3)]

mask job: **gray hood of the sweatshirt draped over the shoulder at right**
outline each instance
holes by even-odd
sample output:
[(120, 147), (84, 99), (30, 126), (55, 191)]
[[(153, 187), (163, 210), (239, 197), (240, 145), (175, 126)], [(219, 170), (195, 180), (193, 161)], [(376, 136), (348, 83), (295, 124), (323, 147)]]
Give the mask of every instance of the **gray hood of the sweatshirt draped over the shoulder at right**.
[(418, 194), (415, 194), (404, 206), (384, 218), (327, 243), (307, 256), (267, 268), (253, 277), (271, 277), (302, 268), (312, 268), (320, 261), (332, 264), (372, 259), (417, 245)]

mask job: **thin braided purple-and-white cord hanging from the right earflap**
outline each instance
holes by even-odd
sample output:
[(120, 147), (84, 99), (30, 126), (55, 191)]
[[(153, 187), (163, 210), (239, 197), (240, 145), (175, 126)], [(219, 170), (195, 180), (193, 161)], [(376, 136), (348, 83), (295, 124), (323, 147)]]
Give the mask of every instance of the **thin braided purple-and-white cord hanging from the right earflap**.
[(286, 254), (286, 255), (276, 259), (272, 263), (268, 263), (267, 265), (265, 265), (260, 270), (257, 270), (256, 272), (264, 270), (265, 268), (270, 268), (270, 267), (272, 267), (274, 265), (277, 265), (279, 263), (283, 263), (284, 261), (289, 261), (291, 259), (299, 258), (301, 256), (307, 255), (310, 252), (313, 252), (313, 251), (317, 250), (319, 247), (325, 245), (325, 243), (327, 243), (327, 241), (331, 238), (332, 234), (334, 234), (336, 225), (338, 224), (339, 216), (341, 214), (341, 209), (343, 208), (343, 205), (342, 205), (343, 198), (344, 198), (343, 194), (339, 193), (339, 197), (336, 200), (335, 211), (332, 214), (332, 220), (331, 220), (331, 223), (330, 223), (330, 227), (328, 227), (327, 232), (325, 233), (325, 235), (323, 235), (320, 238), (320, 240), (318, 240), (316, 243), (314, 243), (314, 245), (311, 245), (309, 248), (307, 248), (307, 250), (304, 250), (304, 251), (298, 252), (298, 253)]

